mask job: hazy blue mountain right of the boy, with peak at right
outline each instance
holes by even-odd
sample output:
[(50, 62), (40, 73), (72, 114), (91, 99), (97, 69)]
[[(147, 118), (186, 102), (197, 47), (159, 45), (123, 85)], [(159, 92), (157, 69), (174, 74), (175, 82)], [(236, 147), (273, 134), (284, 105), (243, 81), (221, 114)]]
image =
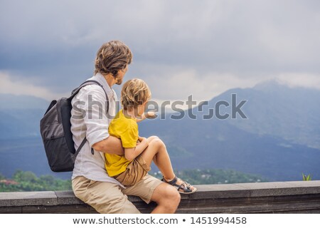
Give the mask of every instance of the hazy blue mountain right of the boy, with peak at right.
[[(231, 118), (231, 101), (246, 100), (241, 111), (247, 119)], [(203, 116), (220, 105), (220, 120)], [(226, 107), (226, 105), (230, 106)], [(178, 169), (230, 168), (270, 180), (300, 180), (302, 172), (320, 178), (320, 91), (289, 88), (268, 82), (255, 88), (235, 88), (201, 108), (187, 110), (181, 120), (149, 120), (141, 123), (141, 135), (159, 135), (168, 145)], [(196, 120), (187, 118), (187, 113)], [(177, 115), (178, 113), (174, 114)]]

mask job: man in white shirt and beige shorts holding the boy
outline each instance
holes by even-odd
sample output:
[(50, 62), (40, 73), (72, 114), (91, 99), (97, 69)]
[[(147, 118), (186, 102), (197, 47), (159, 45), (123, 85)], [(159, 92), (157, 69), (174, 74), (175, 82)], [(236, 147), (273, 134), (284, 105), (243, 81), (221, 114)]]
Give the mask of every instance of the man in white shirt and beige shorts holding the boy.
[[(120, 85), (132, 61), (129, 48), (120, 41), (110, 41), (101, 46), (95, 59), (95, 76), (90, 80), (98, 85), (82, 88), (72, 100), (71, 131), (75, 149), (86, 137), (87, 142), (75, 160), (72, 184), (75, 196), (90, 204), (100, 213), (139, 213), (126, 195), (136, 195), (145, 202), (157, 203), (152, 213), (174, 213), (180, 202), (176, 188), (146, 175), (132, 187), (125, 188), (107, 175), (103, 153), (123, 155), (119, 139), (108, 133), (108, 126), (115, 115), (117, 95), (112, 86)], [(109, 98), (109, 112), (106, 113), (106, 95)], [(82, 118), (73, 118), (73, 117)], [(92, 150), (93, 148), (93, 150)]]

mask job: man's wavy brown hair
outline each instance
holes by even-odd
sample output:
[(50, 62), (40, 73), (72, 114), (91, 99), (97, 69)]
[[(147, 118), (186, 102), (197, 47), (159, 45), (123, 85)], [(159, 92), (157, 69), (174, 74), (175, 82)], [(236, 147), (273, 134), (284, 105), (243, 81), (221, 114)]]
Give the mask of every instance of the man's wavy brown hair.
[(104, 43), (97, 51), (95, 58), (95, 74), (111, 73), (116, 77), (119, 70), (123, 70), (132, 62), (132, 52), (121, 41)]

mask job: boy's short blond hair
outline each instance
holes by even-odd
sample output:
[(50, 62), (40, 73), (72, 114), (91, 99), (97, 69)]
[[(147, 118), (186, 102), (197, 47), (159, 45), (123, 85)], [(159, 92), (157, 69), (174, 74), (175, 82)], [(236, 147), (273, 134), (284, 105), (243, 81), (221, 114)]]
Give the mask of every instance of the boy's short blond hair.
[(124, 110), (138, 108), (151, 98), (148, 85), (139, 78), (134, 78), (124, 83), (121, 90), (121, 103)]

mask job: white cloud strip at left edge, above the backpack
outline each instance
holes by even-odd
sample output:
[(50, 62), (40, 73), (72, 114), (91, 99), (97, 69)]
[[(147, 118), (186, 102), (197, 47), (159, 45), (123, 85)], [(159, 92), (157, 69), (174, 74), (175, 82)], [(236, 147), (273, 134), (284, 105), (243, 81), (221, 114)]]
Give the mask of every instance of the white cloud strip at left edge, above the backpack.
[(52, 93), (48, 88), (35, 86), (30, 78), (18, 80), (10, 76), (9, 73), (0, 71), (0, 93), (10, 93), (14, 95), (33, 95), (46, 100), (53, 100), (65, 96), (66, 94)]

